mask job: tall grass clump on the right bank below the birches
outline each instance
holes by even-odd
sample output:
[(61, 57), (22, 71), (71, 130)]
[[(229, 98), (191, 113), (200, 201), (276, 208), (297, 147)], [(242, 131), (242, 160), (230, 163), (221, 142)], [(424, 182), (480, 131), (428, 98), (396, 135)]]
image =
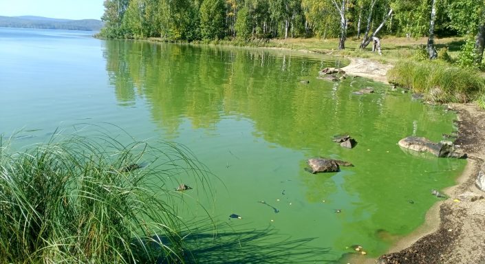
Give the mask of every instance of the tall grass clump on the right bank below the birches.
[(439, 62), (400, 61), (387, 79), (431, 102), (471, 102), (485, 93), (485, 79), (478, 72)]

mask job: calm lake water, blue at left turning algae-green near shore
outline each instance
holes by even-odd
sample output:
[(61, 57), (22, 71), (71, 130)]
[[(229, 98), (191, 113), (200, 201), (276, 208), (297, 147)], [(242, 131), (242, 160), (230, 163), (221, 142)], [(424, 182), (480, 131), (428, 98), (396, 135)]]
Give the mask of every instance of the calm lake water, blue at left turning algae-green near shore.
[[(107, 122), (137, 140), (185, 144), (217, 176), (211, 202), (192, 200), (213, 217), (215, 239), (204, 210), (187, 202), (181, 212), (199, 228), (201, 262), (327, 263), (354, 244), (378, 256), (422, 223), (431, 188), (464, 167), (397, 145), (408, 135), (441, 140), (454, 113), (364, 78), (317, 80), (336, 58), (89, 34), (0, 28), (0, 133), (22, 130), (15, 144), (27, 145)], [(376, 93), (352, 94), (363, 87)], [(339, 133), (358, 145), (341, 148)], [(355, 167), (312, 175), (303, 168), (315, 156)]]

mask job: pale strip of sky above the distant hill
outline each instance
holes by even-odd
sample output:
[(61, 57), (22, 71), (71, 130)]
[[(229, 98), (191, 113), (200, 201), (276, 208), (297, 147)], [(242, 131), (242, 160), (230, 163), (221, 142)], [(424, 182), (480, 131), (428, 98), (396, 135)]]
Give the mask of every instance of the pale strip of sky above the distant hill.
[(0, 16), (54, 19), (100, 19), (103, 0), (0, 0)]

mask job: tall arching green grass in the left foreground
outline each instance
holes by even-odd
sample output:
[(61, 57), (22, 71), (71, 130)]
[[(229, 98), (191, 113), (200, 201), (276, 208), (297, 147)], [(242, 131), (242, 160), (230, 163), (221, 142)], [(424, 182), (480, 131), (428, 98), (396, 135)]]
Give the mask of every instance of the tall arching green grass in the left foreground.
[(12, 153), (0, 137), (0, 263), (184, 263), (167, 177), (206, 186), (208, 173), (184, 146), (158, 146), (72, 136)]

